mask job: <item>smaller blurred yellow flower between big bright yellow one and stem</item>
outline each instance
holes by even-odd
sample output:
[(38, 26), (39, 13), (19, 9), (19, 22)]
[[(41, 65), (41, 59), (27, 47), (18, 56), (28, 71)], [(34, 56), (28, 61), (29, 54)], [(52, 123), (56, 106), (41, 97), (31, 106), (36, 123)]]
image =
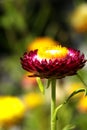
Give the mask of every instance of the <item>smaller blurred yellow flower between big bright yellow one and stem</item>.
[(44, 97), (39, 93), (28, 93), (23, 96), (23, 101), (27, 109), (33, 109), (39, 105), (44, 104)]

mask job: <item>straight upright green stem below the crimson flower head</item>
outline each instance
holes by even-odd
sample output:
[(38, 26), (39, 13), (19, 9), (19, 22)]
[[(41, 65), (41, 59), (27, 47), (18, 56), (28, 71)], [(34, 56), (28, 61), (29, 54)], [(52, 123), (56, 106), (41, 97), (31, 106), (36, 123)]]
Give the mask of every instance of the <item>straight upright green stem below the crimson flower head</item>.
[(56, 80), (53, 79), (51, 83), (51, 130), (56, 130), (56, 118), (54, 118), (55, 107), (56, 107)]

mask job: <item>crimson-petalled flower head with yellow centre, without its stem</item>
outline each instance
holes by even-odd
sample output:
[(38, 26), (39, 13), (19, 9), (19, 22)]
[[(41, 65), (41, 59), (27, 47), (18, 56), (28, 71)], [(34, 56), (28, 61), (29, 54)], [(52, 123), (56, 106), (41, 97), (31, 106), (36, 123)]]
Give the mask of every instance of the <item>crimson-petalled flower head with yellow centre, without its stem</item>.
[(86, 60), (84, 54), (61, 45), (40, 48), (25, 52), (21, 58), (23, 69), (32, 73), (32, 77), (63, 78), (74, 75)]

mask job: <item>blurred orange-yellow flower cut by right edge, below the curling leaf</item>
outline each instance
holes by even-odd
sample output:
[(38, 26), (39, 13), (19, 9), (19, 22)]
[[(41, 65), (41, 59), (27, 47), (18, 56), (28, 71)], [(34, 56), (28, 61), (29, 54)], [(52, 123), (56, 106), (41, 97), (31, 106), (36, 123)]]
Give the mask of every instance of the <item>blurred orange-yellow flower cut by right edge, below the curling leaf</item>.
[(80, 99), (77, 104), (77, 108), (80, 112), (87, 112), (87, 96), (84, 96)]

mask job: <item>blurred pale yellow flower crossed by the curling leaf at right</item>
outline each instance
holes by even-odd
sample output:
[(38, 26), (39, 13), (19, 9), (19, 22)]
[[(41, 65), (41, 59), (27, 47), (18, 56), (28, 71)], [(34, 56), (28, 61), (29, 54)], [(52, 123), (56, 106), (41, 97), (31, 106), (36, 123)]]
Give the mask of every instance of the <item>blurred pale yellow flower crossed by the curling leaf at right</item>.
[[(74, 92), (75, 90), (84, 88), (84, 85), (80, 82), (74, 82), (74, 83), (70, 83), (66, 86), (66, 93), (68, 95), (70, 95), (72, 92)], [(81, 98), (84, 95), (84, 93), (78, 93), (75, 96), (73, 96), (72, 98), (77, 99), (77, 98)]]

